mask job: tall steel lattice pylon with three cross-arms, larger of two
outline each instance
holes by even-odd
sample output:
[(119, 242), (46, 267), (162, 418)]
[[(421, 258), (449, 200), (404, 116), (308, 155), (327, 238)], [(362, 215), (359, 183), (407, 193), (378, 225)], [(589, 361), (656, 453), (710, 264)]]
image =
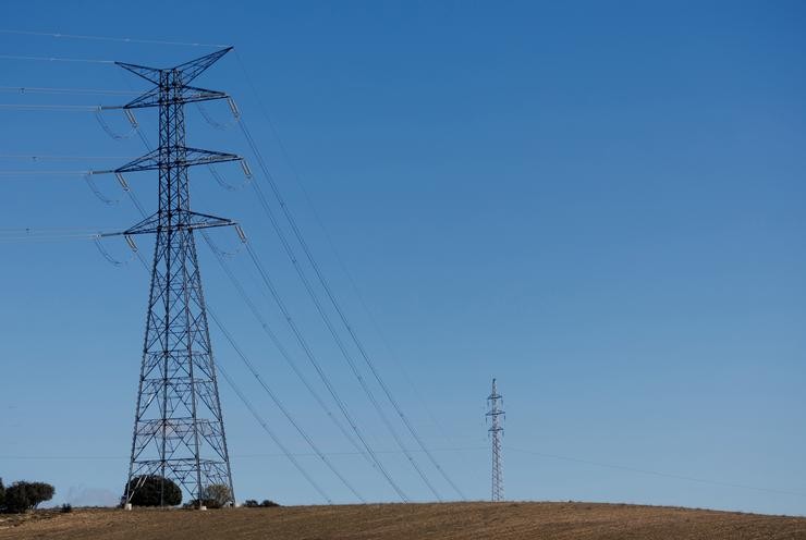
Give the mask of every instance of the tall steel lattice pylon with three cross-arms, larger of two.
[(184, 115), (185, 103), (228, 97), (190, 83), (229, 50), (163, 70), (118, 62), (155, 85), (123, 109), (159, 110), (159, 148), (108, 171), (159, 171), (157, 212), (120, 233), (157, 235), (126, 503), (154, 475), (174, 481), (199, 506), (212, 484), (227, 486), (234, 502), (194, 231), (235, 223), (191, 210), (187, 170), (241, 158), (185, 146)]

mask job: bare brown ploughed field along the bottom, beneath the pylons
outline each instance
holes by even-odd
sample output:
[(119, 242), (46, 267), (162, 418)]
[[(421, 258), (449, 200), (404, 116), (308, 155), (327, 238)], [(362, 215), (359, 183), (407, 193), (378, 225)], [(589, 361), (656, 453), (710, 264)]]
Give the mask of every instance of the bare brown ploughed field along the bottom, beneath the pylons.
[(804, 539), (806, 518), (588, 503), (443, 503), (220, 511), (76, 510), (0, 521), (0, 539)]

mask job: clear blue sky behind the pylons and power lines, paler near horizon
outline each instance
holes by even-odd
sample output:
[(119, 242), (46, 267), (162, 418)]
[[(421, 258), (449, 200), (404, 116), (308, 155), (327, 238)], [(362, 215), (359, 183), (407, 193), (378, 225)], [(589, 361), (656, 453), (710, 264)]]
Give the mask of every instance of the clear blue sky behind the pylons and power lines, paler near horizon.
[[(379, 369), (468, 496), (489, 495), (484, 404), (496, 376), (509, 499), (806, 514), (803, 3), (184, 4), (15, 2), (0, 8), (0, 29), (235, 45), (245, 71), (229, 56), (198, 84), (240, 103)], [(7, 56), (167, 66), (211, 50), (0, 34)], [(0, 65), (3, 87), (144, 88), (111, 64)], [(124, 99), (0, 94), (26, 105)], [(229, 119), (224, 103), (207, 111)], [(187, 115), (191, 144), (252, 158), (236, 128), (215, 130), (193, 107)], [(136, 137), (110, 139), (89, 112), (0, 118), (3, 156), (96, 158), (3, 157), (2, 171), (106, 169), (144, 151)], [(106, 118), (125, 131), (119, 113)], [(154, 112), (138, 118), (154, 140)], [(240, 182), (235, 168), (222, 172)], [(243, 223), (371, 443), (395, 450), (253, 192), (223, 191), (206, 170), (192, 177), (195, 208)], [(152, 209), (155, 175), (129, 182)], [(81, 176), (3, 174), (0, 229), (138, 220), (113, 179), (98, 185), (120, 204), (100, 204)], [(216, 240), (236, 247), (232, 232)], [(126, 258), (123, 242), (106, 245)], [(0, 247), (0, 476), (51, 481), (54, 502), (114, 500), (148, 278), (85, 240)], [(300, 422), (367, 499), (394, 500), (361, 457), (341, 454), (351, 446), (209, 250), (200, 257), (210, 304)], [(307, 372), (247, 258), (231, 265)], [(215, 329), (212, 339), (292, 451), (309, 452)], [(237, 499), (321, 503), (223, 381), (221, 394)], [(403, 456), (382, 459), (413, 499), (431, 498)], [(334, 500), (353, 500), (315, 457), (301, 461)]]

